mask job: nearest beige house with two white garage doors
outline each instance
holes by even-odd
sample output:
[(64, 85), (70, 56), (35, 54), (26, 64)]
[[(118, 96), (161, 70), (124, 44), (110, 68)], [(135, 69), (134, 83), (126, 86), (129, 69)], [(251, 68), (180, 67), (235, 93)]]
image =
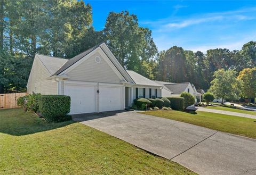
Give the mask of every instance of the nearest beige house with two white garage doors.
[(27, 89), (68, 95), (70, 114), (78, 114), (124, 110), (134, 98), (161, 97), (163, 86), (126, 71), (102, 43), (70, 60), (36, 54)]

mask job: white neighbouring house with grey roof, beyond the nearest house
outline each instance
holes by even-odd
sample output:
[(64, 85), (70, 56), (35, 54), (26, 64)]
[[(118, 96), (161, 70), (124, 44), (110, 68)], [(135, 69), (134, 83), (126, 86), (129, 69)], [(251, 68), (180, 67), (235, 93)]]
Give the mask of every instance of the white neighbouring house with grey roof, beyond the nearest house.
[(165, 81), (155, 81), (157, 84), (162, 85), (162, 96), (180, 96), (181, 93), (187, 92), (195, 96), (195, 102), (201, 102), (201, 93), (198, 93), (195, 86), (190, 84), (190, 82), (165, 82)]

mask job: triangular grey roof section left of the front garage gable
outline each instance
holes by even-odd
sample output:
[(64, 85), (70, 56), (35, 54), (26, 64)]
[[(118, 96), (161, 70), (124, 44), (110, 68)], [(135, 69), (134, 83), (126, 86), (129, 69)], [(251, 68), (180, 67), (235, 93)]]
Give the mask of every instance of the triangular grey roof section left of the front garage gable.
[(44, 64), (45, 68), (50, 72), (51, 75), (53, 75), (61, 68), (61, 66), (68, 62), (67, 59), (61, 59), (54, 56), (46, 56), (42, 54), (36, 54), (36, 56)]

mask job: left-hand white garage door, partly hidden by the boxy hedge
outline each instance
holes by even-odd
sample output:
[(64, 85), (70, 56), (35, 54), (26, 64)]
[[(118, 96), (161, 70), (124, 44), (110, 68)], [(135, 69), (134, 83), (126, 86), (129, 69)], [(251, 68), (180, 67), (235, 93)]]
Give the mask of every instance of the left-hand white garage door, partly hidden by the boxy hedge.
[(65, 85), (64, 94), (70, 96), (70, 114), (96, 112), (94, 85)]

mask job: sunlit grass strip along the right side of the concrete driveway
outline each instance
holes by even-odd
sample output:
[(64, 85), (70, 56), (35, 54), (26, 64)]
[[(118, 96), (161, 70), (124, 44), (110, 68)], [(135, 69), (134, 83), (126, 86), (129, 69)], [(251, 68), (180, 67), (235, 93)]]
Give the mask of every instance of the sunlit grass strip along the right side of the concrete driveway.
[(202, 111), (197, 111), (196, 113), (181, 111), (146, 111), (141, 113), (256, 139), (256, 119)]

